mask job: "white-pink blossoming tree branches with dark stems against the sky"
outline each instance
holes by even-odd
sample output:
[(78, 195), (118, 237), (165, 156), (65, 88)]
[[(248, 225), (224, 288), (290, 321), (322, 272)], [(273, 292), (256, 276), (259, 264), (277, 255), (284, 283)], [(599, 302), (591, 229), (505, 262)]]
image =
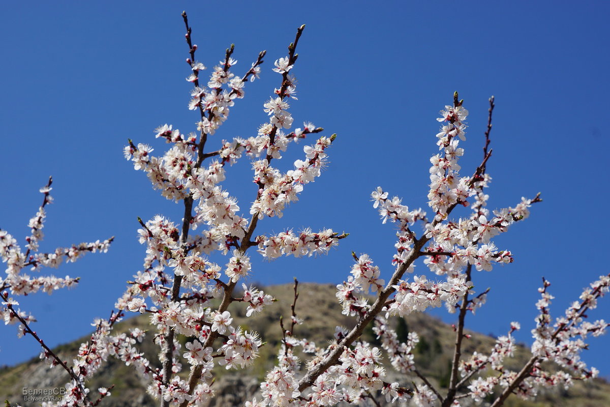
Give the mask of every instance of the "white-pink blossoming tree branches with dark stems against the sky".
[[(264, 104), (268, 121), (260, 126), (256, 136), (219, 141), (213, 136), (227, 120), (229, 110), (244, 97), (246, 84), (259, 77), (265, 52), (260, 52), (251, 67), (239, 76), (232, 70), (237, 61), (232, 57), (231, 46), (206, 84), (200, 76), (206, 67), (195, 59), (197, 46), (192, 42), (187, 15), (182, 16), (191, 71), (187, 81), (193, 83), (188, 107), (198, 115), (196, 132), (184, 134), (163, 124), (156, 129), (156, 137), (167, 140), (169, 148), (164, 153), (154, 154), (149, 145), (131, 140), (124, 149), (126, 159), (131, 160), (135, 170), (146, 174), (154, 189), (168, 200), (184, 205), (182, 221), (174, 223), (160, 215), (146, 222), (140, 220), (139, 238), (146, 245), (142, 270), (129, 281), (109, 319), (95, 320), (95, 332), (81, 345), (72, 363), (63, 361), (30, 328), (35, 319), (18, 308), (16, 298), (40, 289), (51, 292), (73, 286), (78, 279), (32, 278), (24, 270), (58, 267), (63, 259), (76, 261), (87, 251), (106, 251), (112, 239), (40, 253), (38, 242), (43, 237), (46, 206), (52, 201), (51, 179), (41, 189), (43, 204), (30, 220), (32, 232), (26, 239), (26, 250), (9, 233), (0, 231), (0, 254), (7, 264), (6, 276), (0, 283), (4, 321), (18, 326), (18, 336), (34, 337), (43, 348), (41, 358), (51, 366), (59, 365), (66, 370), (70, 381), (66, 383), (65, 396), (54, 403), (57, 406), (95, 406), (109, 396), (111, 389), (90, 391), (87, 381), (110, 357), (120, 359), (148, 378), (148, 392), (159, 400), (160, 406), (207, 405), (214, 396), (210, 387), (213, 367), (243, 369), (257, 358), (263, 345), (259, 334), (236, 326), (231, 314), (242, 308), (249, 317), (264, 312), (274, 301), (262, 290), (244, 283), (246, 276), (256, 272), (251, 267), (251, 256), (272, 260), (280, 256), (325, 254), (347, 236), (332, 229), (300, 232), (287, 229), (279, 234), (261, 230), (266, 218), (281, 217), (287, 206), (298, 200), (304, 186), (320, 176), (327, 150), (336, 138), (333, 134), (311, 140), (292, 170), (282, 172), (276, 166), (294, 142), (323, 133), (322, 128), (312, 123), (291, 131), (293, 117), (289, 108), (296, 100), (292, 71), (304, 26), (297, 30), (288, 55), (274, 62), (273, 71), (279, 74), (278, 88)], [(430, 159), (429, 214), (422, 209), (409, 209), (401, 198), (390, 198), (382, 187), (371, 194), (382, 222), (397, 226), (396, 252), (391, 272), (382, 272), (367, 254), (353, 254), (350, 275), (337, 285), (337, 300), (343, 314), (353, 317), (350, 330), (337, 328), (335, 340), (328, 346), (296, 337), (295, 326), (301, 320), (295, 311), (298, 297), (295, 284), (292, 319), (289, 325), (281, 321), (283, 340), (278, 364), (260, 384), (260, 395), (244, 400), (245, 406), (331, 406), (383, 397), (387, 402), (448, 407), (480, 403), (490, 394), (497, 394), (492, 406), (500, 406), (511, 394), (531, 398), (540, 387), (567, 387), (574, 380), (597, 375), (597, 370), (580, 360), (579, 353), (586, 347), (583, 339), (589, 334), (603, 333), (608, 324), (603, 320), (586, 322), (583, 315), (608, 292), (610, 275), (592, 283), (583, 291), (580, 301), (575, 301), (564, 316), (555, 320), (549, 311), (553, 298), (548, 292), (550, 284), (543, 280), (537, 303), (540, 312), (532, 331), (532, 355), (520, 371), (504, 367), (504, 359), (512, 356), (515, 349), (512, 333), (520, 328), (517, 322), (507, 327), (506, 336), (498, 337), (487, 353), (463, 354), (464, 341), (468, 340), (464, 333), (467, 315), (483, 306), (487, 295), (487, 290), (480, 291), (473, 283), (476, 272), (490, 272), (496, 264), (513, 261), (511, 251), (497, 248), (493, 237), (528, 218), (529, 208), (541, 201), (537, 195), (522, 198), (514, 207), (499, 211), (490, 212), (486, 208), (489, 196), (485, 189), (491, 181), (486, 164), (492, 156), (489, 136), (493, 108), (492, 97), (483, 160), (470, 175), (462, 175), (458, 164), (464, 154), (459, 143), (465, 140), (468, 110), (455, 93), (453, 103), (441, 111), (437, 118), (441, 128), (436, 134), (439, 153)], [(226, 166), (240, 159), (251, 159), (254, 173), (253, 203), (246, 213), (222, 184)], [(468, 208), (467, 213), (456, 218), (454, 212), (464, 211), (463, 208)], [(416, 228), (416, 224), (421, 227)], [(423, 232), (418, 233), (419, 229)], [(226, 256), (224, 263), (207, 258), (217, 252)], [(420, 258), (429, 273), (414, 273), (415, 262)], [(444, 389), (435, 387), (417, 369), (413, 355), (419, 341), (417, 333), (409, 333), (406, 342), (400, 342), (389, 322), (439, 306), (456, 313), (458, 319), (450, 381)], [(158, 361), (149, 361), (138, 351), (143, 331), (113, 333), (113, 326), (127, 312), (149, 315), (156, 329), (154, 341), (160, 349)], [(362, 340), (367, 326), (373, 326), (381, 349)], [(178, 340), (181, 336), (188, 338), (185, 348)], [(298, 348), (302, 353), (297, 353)], [(299, 355), (307, 353), (312, 357), (303, 364)], [(182, 366), (180, 356), (187, 366)], [(383, 358), (398, 372), (416, 376), (416, 382), (411, 384), (406, 378), (404, 383), (386, 381)], [(546, 361), (554, 362), (558, 369), (546, 370), (542, 365)]]

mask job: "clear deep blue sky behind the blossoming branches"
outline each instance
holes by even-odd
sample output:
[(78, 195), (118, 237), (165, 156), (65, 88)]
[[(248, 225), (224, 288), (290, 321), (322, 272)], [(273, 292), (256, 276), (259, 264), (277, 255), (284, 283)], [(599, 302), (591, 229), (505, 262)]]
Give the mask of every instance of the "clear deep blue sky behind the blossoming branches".
[[(495, 95), (493, 156), (488, 171), (490, 209), (542, 192), (526, 222), (495, 240), (515, 263), (476, 273), (477, 289), (492, 287), (487, 306), (468, 327), (503, 334), (522, 323), (518, 339), (534, 327), (537, 287), (553, 284), (554, 315), (581, 288), (607, 273), (606, 216), (610, 147), (607, 95), (609, 6), (606, 2), (3, 2), (0, 5), (2, 177), (0, 228), (18, 239), (41, 202), (38, 188), (54, 178), (41, 248), (116, 236), (109, 253), (43, 273), (81, 276), (79, 287), (49, 297), (21, 298), (39, 320), (49, 345), (90, 331), (106, 316), (127, 279), (142, 265), (137, 217), (164, 214), (176, 222), (181, 208), (153, 191), (143, 173), (123, 158), (127, 138), (166, 145), (153, 129), (170, 123), (188, 133), (196, 115), (187, 109), (190, 84), (180, 13), (187, 10), (198, 59), (212, 67), (235, 43), (236, 73), (267, 49), (260, 81), (232, 108), (209, 145), (256, 134), (267, 120), (262, 104), (279, 75), (273, 61), (286, 54), (296, 27), (306, 24), (293, 73), (295, 123), (314, 121), (337, 133), (330, 165), (281, 219), (259, 229), (330, 227), (350, 232), (329, 256), (258, 262), (251, 281), (341, 283), (351, 251), (368, 253), (389, 277), (395, 229), (382, 225), (370, 203), (381, 185), (410, 207), (427, 207), (429, 157), (436, 154), (437, 112), (454, 90), (470, 110), (461, 161), (470, 174), (482, 158), (487, 99)], [(208, 71), (209, 72), (209, 71)], [(302, 146), (303, 144), (301, 144)], [(292, 147), (281, 167), (302, 156)], [(229, 170), (224, 184), (242, 209), (254, 198), (249, 164)], [(461, 215), (464, 215), (463, 212)], [(459, 216), (460, 214), (456, 215)], [(258, 229), (257, 229), (258, 230)], [(419, 267), (424, 272), (424, 267)], [(590, 313), (606, 318), (610, 299)], [(443, 312), (435, 312), (452, 322)], [(68, 317), (64, 317), (68, 315)], [(61, 316), (61, 317), (60, 317)], [(0, 364), (38, 354), (34, 340), (16, 340), (2, 328)], [(15, 340), (13, 340), (15, 338)], [(590, 340), (584, 355), (610, 376), (609, 337)]]

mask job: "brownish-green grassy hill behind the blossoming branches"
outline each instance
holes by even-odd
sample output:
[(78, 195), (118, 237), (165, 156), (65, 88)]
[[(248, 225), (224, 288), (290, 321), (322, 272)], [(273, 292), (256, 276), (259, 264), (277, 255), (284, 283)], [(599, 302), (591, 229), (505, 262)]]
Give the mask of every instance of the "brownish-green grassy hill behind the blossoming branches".
[[(352, 317), (341, 314), (341, 309), (335, 298), (335, 287), (330, 284), (300, 284), (300, 297), (296, 304), (296, 314), (304, 320), (302, 325), (295, 328), (296, 337), (306, 337), (316, 342), (318, 346), (325, 345), (335, 331), (335, 326), (350, 327), (354, 323)], [(216, 391), (216, 397), (210, 402), (210, 407), (215, 406), (243, 406), (246, 400), (259, 394), (259, 383), (264, 378), (265, 372), (273, 366), (276, 361), (276, 353), (282, 339), (279, 317), (290, 320), (290, 304), (293, 301), (293, 289), (291, 284), (267, 287), (265, 292), (273, 295), (278, 301), (268, 306), (262, 314), (245, 316), (245, 306), (237, 303), (231, 308), (234, 324), (239, 323), (245, 330), (254, 330), (261, 334), (267, 342), (260, 349), (260, 357), (253, 366), (246, 370), (226, 370), (221, 367), (215, 369), (215, 383), (212, 388)], [(448, 383), (450, 361), (453, 355), (454, 332), (450, 325), (434, 319), (427, 314), (415, 313), (409, 315), (403, 321), (397, 322), (397, 333), (406, 336), (407, 331), (412, 330), (419, 334), (420, 343), (415, 348), (415, 362), (420, 372), (428, 376), (434, 386), (443, 387)], [(129, 328), (138, 327), (146, 330), (148, 317), (138, 315), (115, 326), (116, 332), (124, 332)], [(463, 353), (472, 354), (473, 351), (488, 352), (495, 339), (483, 334), (467, 331), (471, 337), (464, 342)], [(376, 342), (371, 330), (365, 331), (364, 340), (373, 344)], [(88, 337), (60, 345), (54, 351), (62, 359), (70, 361), (81, 342), (86, 342)], [(182, 343), (186, 338), (181, 338)], [(152, 334), (149, 334), (142, 344), (138, 344), (140, 351), (145, 353), (149, 360), (156, 360), (157, 347), (152, 343)], [(514, 358), (506, 361), (506, 366), (519, 369), (525, 364), (529, 357), (529, 350), (520, 345), (515, 352)], [(411, 386), (413, 377), (406, 377), (395, 372), (388, 366), (389, 381), (398, 381), (404, 386)], [(59, 392), (67, 380), (66, 372), (60, 367), (49, 369), (46, 364), (38, 358), (13, 367), (0, 369), (0, 400), (9, 400), (13, 404), (24, 407), (38, 406), (40, 402), (28, 402), (24, 400), (23, 389), (36, 390), (47, 389)], [(112, 396), (107, 397), (101, 403), (101, 407), (136, 407), (156, 406), (145, 392), (145, 381), (129, 366), (125, 366), (117, 359), (109, 362), (94, 376), (90, 382), (90, 388), (109, 387), (114, 384)], [(26, 390), (26, 391), (27, 391)], [(380, 406), (385, 406), (385, 398), (379, 397)], [(407, 404), (408, 405), (408, 404)], [(541, 392), (536, 402), (525, 402), (517, 397), (511, 397), (505, 403), (508, 407), (599, 407), (610, 406), (610, 384), (605, 380), (593, 380), (586, 383), (578, 382), (568, 391), (555, 389), (553, 391)]]

